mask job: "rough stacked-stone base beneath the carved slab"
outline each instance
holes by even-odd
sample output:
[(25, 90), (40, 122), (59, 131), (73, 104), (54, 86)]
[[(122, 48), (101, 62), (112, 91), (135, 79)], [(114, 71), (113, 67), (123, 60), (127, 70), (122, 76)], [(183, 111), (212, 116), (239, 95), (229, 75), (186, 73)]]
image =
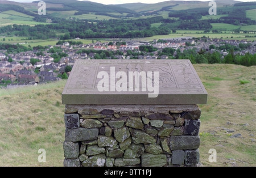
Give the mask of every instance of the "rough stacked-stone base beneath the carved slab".
[(64, 166), (199, 164), (200, 108), (159, 108), (139, 111), (137, 106), (66, 105)]

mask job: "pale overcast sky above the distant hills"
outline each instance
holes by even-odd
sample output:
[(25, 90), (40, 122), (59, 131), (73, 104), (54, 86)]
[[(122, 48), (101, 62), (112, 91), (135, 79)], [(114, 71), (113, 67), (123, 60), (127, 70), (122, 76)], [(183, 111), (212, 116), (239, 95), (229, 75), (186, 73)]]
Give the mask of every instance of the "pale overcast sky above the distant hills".
[[(1, 1), (1, 0), (0, 0)], [(32, 2), (35, 0), (12, 0), (16, 2)], [(37, 0), (39, 1), (39, 0)], [(82, 0), (79, 0), (82, 1)], [(118, 4), (123, 4), (123, 3), (133, 3), (133, 2), (142, 2), (142, 3), (158, 3), (158, 2), (163, 2), (167, 0), (92, 0), (92, 2), (97, 2), (97, 3), (102, 3), (105, 5), (118, 5)], [(189, 0), (184, 0), (184, 1), (189, 1)], [(210, 1), (210, 0), (201, 0), (201, 1)], [(225, 0), (224, 0), (225, 1)], [(256, 0), (240, 0), (242, 2), (254, 2)]]

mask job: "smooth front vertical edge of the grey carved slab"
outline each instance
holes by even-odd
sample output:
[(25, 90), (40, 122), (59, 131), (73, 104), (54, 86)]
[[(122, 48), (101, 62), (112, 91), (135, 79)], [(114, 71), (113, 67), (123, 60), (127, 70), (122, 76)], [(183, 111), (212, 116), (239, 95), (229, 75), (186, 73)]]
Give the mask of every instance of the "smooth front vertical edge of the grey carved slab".
[(63, 104), (89, 105), (190, 105), (207, 104), (208, 94), (170, 94), (159, 95), (158, 98), (148, 98), (148, 95), (84, 95), (63, 94)]

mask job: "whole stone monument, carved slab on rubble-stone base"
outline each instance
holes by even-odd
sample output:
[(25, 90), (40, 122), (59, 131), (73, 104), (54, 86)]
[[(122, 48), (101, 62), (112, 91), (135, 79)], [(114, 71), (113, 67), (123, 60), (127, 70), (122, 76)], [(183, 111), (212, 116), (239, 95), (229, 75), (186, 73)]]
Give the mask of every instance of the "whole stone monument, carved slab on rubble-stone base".
[(196, 166), (207, 96), (189, 60), (77, 60), (62, 94), (64, 166)]

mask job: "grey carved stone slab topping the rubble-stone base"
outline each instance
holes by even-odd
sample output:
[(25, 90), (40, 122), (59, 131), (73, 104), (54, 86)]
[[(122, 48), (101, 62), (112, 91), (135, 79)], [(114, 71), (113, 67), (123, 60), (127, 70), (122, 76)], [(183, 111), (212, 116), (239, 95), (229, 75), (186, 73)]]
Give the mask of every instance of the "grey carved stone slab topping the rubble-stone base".
[(207, 96), (189, 60), (77, 60), (62, 101), (63, 104), (179, 105), (207, 104)]

